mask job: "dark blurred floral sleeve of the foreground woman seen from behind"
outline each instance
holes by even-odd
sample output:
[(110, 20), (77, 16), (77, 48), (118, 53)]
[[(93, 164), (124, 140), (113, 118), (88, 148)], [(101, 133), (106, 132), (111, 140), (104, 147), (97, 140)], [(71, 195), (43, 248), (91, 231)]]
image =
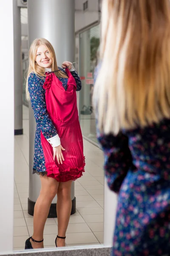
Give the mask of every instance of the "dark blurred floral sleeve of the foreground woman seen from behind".
[(122, 133), (117, 136), (105, 135), (98, 130), (97, 139), (105, 156), (104, 169), (108, 186), (118, 193), (128, 170), (134, 168), (128, 146), (128, 137)]

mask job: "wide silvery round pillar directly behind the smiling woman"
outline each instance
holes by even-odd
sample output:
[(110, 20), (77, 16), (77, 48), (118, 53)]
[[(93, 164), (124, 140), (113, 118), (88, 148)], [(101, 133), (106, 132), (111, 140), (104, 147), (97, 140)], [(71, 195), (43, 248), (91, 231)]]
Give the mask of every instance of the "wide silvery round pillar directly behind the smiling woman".
[[(28, 0), (28, 47), (36, 38), (46, 38), (54, 47), (57, 64), (63, 61), (74, 62), (74, 0)], [(40, 192), (40, 177), (32, 175), (34, 157), (34, 137), (36, 122), (29, 103), (29, 198), (28, 213), (34, 214), (34, 204)], [(72, 211), (76, 212), (74, 182), (71, 188)], [(54, 198), (48, 218), (56, 217)]]

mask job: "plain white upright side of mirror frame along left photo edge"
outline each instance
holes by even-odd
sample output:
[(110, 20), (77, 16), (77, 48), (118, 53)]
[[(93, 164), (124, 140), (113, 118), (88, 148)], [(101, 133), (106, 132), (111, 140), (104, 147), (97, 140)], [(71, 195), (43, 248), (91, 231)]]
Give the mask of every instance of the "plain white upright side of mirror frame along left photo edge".
[(13, 251), (14, 38), (13, 0), (0, 3), (0, 253)]

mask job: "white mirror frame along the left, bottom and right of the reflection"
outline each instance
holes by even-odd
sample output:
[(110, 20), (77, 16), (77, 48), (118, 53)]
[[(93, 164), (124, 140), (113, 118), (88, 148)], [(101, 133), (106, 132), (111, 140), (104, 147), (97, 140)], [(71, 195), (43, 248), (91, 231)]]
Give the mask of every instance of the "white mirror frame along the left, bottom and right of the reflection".
[[(7, 10), (7, 12), (4, 10)], [(30, 256), (98, 256), (109, 255), (111, 252), (111, 241), (113, 226), (111, 219), (113, 212), (108, 211), (109, 205), (105, 203), (104, 218), (110, 214), (112, 218), (107, 218), (109, 223), (104, 219), (104, 245), (88, 245), (87, 247), (66, 247), (59, 249), (43, 249), (32, 251), (13, 251), (13, 225), (14, 225), (14, 32), (13, 32), (13, 0), (3, 1), (3, 8), (0, 9), (0, 17), (3, 23), (0, 24), (0, 31), (4, 36), (4, 40), (0, 41), (3, 59), (3, 74), (1, 76), (1, 101), (0, 109), (5, 111), (1, 115), (1, 140), (0, 140), (0, 255), (24, 255), (29, 253)], [(4, 24), (6, 24), (4, 26)], [(9, 61), (10, 60), (10, 61)], [(108, 186), (105, 186), (105, 198), (108, 197)], [(113, 195), (114, 193), (112, 193)], [(107, 232), (106, 232), (107, 231)], [(105, 234), (110, 240), (105, 239)], [(36, 254), (35, 254), (36, 253)], [(37, 254), (38, 253), (38, 254)], [(39, 254), (40, 253), (40, 254)]]

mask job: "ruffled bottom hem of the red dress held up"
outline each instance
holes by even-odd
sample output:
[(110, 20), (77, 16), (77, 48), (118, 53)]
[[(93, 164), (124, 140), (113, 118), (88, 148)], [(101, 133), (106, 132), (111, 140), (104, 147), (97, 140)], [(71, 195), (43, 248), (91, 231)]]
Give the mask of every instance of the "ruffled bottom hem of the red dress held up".
[(68, 180), (77, 180), (82, 177), (82, 173), (85, 172), (85, 157), (81, 167), (69, 167), (65, 170), (59, 170), (55, 163), (45, 164), (48, 177), (56, 179), (58, 182), (66, 182)]

